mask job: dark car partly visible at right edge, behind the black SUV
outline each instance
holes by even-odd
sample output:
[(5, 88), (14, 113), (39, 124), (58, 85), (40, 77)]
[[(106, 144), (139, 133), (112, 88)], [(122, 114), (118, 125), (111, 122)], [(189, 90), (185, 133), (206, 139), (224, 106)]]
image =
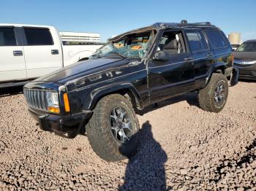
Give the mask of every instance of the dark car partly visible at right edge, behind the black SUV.
[(239, 79), (256, 79), (256, 39), (248, 40), (234, 51), (234, 67)]

